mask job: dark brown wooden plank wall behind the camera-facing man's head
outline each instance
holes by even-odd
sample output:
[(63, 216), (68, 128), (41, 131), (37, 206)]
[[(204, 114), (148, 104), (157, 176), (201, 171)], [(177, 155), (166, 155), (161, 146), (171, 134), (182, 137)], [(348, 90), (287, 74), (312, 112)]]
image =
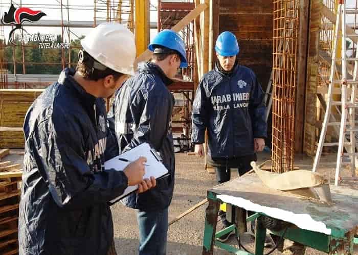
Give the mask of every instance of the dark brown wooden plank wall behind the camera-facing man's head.
[(253, 69), (265, 90), (272, 69), (273, 2), (220, 0), (219, 33), (223, 31), (236, 35), (239, 64)]

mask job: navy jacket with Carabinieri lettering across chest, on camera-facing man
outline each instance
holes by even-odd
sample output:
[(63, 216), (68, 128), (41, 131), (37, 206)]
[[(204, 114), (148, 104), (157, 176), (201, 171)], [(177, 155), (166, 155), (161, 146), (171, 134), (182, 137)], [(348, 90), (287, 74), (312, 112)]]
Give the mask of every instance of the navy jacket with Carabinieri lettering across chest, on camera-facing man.
[(211, 157), (254, 154), (254, 138), (266, 137), (263, 96), (251, 69), (235, 65), (230, 74), (225, 74), (217, 63), (196, 90), (192, 142), (203, 144), (207, 128)]

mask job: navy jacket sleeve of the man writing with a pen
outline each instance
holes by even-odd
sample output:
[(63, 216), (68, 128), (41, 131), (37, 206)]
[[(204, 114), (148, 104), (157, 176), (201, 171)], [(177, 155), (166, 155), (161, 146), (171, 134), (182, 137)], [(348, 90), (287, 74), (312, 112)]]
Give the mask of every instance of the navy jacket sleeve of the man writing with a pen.
[(72, 210), (110, 201), (127, 188), (128, 179), (114, 169), (95, 172), (87, 164), (86, 131), (80, 120), (59, 117), (42, 122), (30, 139), (42, 177), (56, 204)]

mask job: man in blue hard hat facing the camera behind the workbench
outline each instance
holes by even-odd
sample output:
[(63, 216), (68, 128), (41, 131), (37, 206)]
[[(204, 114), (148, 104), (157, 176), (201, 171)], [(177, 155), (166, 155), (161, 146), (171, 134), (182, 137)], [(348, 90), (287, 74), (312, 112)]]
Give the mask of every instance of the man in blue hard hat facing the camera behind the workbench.
[[(205, 74), (196, 91), (192, 110), (192, 143), (195, 153), (204, 155), (208, 130), (208, 163), (215, 167), (218, 183), (230, 180), (231, 168), (239, 175), (251, 170), (256, 152), (266, 137), (263, 91), (254, 72), (239, 65), (239, 45), (231, 32), (221, 33), (215, 45), (218, 62)], [(223, 226), (230, 223), (219, 212)], [(220, 238), (226, 241), (230, 235)]]

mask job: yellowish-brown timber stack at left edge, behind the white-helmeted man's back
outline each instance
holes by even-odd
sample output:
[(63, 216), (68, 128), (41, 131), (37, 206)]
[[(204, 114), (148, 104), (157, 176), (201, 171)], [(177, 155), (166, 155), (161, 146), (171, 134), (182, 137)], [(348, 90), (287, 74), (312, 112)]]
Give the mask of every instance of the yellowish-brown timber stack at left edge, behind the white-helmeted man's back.
[(43, 89), (0, 89), (0, 148), (24, 148), (27, 110)]

